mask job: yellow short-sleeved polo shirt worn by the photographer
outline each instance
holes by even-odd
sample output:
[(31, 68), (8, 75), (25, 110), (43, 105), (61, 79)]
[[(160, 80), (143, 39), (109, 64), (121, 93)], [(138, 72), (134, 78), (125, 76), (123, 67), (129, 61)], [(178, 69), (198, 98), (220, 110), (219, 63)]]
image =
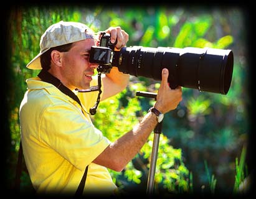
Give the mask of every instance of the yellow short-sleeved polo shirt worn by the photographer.
[[(92, 85), (97, 85), (97, 80)], [(40, 78), (27, 80), (20, 106), (21, 141), (31, 182), (38, 193), (74, 194), (87, 165), (83, 193), (113, 194), (107, 168), (92, 161), (110, 144), (89, 116), (98, 91), (77, 94), (80, 105)]]

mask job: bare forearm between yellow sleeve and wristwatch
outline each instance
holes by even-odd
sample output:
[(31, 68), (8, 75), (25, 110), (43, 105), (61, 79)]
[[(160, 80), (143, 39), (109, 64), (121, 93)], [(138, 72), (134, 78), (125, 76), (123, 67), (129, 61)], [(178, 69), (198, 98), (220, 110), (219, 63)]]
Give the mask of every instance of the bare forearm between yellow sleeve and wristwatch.
[(123, 170), (146, 143), (156, 124), (156, 115), (146, 114), (133, 130), (110, 144), (93, 162), (116, 171)]

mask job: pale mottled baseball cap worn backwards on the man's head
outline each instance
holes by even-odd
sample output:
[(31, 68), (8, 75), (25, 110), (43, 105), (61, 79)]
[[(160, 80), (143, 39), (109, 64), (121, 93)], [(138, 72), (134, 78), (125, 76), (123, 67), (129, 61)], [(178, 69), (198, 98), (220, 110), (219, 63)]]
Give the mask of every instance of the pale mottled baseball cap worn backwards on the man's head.
[(52, 47), (93, 38), (94, 32), (87, 25), (80, 22), (60, 21), (50, 25), (40, 39), (39, 54), (27, 64), (27, 68), (42, 69), (40, 56)]

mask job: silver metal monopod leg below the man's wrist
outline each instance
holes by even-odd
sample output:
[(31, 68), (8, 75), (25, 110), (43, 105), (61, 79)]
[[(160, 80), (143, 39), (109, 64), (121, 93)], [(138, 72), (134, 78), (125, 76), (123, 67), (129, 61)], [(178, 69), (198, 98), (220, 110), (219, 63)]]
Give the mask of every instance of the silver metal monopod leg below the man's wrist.
[(154, 129), (153, 149), (149, 166), (148, 187), (146, 190), (148, 195), (151, 195), (154, 190), (154, 174), (156, 172), (156, 161), (158, 159), (159, 137), (161, 134), (162, 124), (163, 122), (159, 123)]

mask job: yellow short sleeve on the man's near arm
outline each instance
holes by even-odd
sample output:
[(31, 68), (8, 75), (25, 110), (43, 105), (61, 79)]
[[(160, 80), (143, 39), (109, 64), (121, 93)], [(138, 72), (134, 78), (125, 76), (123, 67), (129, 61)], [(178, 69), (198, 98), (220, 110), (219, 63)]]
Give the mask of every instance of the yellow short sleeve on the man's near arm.
[(110, 144), (74, 104), (52, 104), (40, 122), (40, 141), (80, 170)]

